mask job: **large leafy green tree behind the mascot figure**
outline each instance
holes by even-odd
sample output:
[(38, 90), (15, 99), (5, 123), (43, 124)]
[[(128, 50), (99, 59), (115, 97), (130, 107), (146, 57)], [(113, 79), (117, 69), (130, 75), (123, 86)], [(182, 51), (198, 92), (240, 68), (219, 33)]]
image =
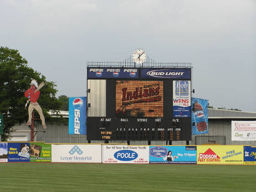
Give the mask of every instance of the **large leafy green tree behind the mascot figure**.
[(22, 58), (18, 50), (0, 47), (0, 113), (4, 114), (4, 135), (6, 140), (11, 128), (27, 121), (27, 110), (24, 109), (27, 98), (24, 92), (30, 88), (31, 80), (45, 85), (40, 90), (38, 103), (43, 114), (48, 117), (48, 110), (58, 109), (61, 101), (55, 97), (57, 90), (53, 81), (46, 81), (41, 73), (27, 66), (27, 60)]

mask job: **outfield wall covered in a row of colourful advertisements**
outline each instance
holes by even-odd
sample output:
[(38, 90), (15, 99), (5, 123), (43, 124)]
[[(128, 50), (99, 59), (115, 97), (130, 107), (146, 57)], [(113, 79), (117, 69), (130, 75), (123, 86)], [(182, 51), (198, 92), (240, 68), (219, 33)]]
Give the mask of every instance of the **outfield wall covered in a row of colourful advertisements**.
[(256, 147), (1, 142), (0, 162), (256, 165)]

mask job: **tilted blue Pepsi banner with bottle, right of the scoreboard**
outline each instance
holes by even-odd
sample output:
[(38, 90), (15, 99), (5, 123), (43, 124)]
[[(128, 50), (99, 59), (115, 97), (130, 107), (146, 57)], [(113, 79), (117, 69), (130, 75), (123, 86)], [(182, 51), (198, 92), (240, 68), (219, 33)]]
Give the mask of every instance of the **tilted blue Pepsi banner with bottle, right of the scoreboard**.
[(191, 106), (192, 135), (208, 133), (208, 100), (192, 97)]

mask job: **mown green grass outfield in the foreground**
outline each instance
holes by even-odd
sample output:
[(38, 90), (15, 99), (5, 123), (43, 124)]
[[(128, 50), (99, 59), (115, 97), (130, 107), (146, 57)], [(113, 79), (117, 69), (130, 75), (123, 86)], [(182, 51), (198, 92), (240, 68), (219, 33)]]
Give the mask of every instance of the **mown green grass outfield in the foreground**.
[(255, 165), (0, 163), (0, 192), (255, 192)]

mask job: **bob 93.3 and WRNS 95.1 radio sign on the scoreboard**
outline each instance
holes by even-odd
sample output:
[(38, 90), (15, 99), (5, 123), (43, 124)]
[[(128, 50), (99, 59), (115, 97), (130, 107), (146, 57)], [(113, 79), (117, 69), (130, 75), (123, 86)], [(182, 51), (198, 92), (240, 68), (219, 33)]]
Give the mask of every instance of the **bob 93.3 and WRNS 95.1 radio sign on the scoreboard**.
[(191, 117), (191, 81), (173, 81), (173, 117)]

